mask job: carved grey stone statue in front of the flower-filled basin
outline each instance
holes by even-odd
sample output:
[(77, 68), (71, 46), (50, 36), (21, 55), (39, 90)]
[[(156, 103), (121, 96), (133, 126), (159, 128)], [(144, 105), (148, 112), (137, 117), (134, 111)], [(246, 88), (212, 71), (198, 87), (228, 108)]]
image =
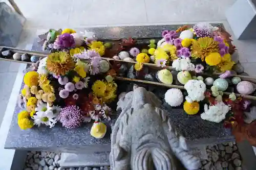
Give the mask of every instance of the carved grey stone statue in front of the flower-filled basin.
[(185, 138), (160, 109), (157, 96), (143, 87), (122, 96), (122, 110), (111, 135), (110, 163), (113, 170), (199, 169), (200, 159), (189, 154)]

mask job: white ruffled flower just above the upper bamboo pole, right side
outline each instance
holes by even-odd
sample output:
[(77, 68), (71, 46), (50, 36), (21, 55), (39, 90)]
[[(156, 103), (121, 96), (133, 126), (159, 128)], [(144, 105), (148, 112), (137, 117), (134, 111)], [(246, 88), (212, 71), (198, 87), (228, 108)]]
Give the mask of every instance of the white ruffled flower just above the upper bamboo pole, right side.
[(174, 60), (172, 66), (176, 71), (193, 71), (195, 70), (195, 65), (191, 63), (189, 58), (178, 58)]

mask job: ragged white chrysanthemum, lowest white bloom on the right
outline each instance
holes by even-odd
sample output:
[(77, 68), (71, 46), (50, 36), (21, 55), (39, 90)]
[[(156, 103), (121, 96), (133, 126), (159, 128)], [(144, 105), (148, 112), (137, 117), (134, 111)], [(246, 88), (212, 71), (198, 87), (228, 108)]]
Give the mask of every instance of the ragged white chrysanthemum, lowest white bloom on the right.
[(201, 118), (210, 122), (220, 123), (225, 119), (229, 109), (229, 106), (225, 105), (223, 102), (219, 102), (212, 106), (205, 104), (204, 112), (201, 114)]

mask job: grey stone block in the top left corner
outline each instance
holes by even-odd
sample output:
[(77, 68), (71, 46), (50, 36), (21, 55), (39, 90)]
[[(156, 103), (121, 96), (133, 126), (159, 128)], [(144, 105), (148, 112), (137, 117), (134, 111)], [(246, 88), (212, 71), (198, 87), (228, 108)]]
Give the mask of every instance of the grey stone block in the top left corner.
[(0, 46), (17, 46), (24, 22), (24, 17), (6, 3), (0, 3)]

